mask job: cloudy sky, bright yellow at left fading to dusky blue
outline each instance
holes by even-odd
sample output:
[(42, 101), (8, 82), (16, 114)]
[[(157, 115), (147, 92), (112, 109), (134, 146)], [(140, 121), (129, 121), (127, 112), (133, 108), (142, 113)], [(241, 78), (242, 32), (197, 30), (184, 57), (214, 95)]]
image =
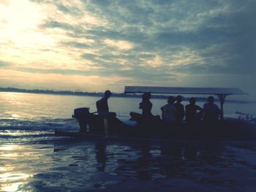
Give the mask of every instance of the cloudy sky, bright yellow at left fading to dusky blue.
[(0, 0), (0, 87), (256, 98), (255, 0)]

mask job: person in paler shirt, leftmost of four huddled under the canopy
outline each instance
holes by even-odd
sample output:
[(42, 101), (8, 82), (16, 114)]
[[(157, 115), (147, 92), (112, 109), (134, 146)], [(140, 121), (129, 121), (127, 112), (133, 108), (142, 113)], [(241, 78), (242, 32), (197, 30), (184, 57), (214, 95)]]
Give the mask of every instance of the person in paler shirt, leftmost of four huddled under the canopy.
[(176, 107), (173, 104), (174, 101), (174, 97), (169, 96), (167, 100), (168, 104), (165, 104), (160, 108), (162, 111), (162, 120), (167, 124), (175, 122)]

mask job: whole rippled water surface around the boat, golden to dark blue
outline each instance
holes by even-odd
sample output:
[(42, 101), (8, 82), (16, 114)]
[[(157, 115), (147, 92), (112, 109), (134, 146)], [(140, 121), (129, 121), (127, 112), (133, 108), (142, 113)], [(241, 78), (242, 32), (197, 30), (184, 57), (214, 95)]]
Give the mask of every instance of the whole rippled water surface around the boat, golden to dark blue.
[[(0, 191), (255, 191), (256, 142), (78, 140), (72, 113), (95, 112), (96, 96), (0, 92)], [(138, 98), (111, 97), (128, 119)], [(160, 115), (165, 99), (151, 99)], [(187, 101), (183, 101), (187, 104)], [(203, 102), (197, 102), (201, 107)], [(256, 104), (227, 101), (225, 114), (256, 115)]]

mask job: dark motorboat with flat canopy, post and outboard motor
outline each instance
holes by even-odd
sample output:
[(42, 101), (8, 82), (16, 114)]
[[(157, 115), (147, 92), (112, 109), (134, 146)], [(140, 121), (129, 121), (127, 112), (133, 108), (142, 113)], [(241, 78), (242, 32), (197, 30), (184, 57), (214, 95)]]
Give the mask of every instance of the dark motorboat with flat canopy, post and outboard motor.
[(221, 103), (221, 118), (215, 124), (203, 121), (191, 124), (187, 122), (166, 125), (159, 117), (147, 122), (136, 123), (133, 120), (118, 118), (103, 119), (95, 112), (89, 112), (89, 107), (74, 110), (73, 118), (80, 124), (79, 131), (56, 130), (59, 136), (78, 139), (108, 139), (108, 140), (255, 140), (255, 121), (230, 120), (223, 116), (225, 97), (231, 94), (245, 94), (238, 88), (159, 88), (159, 87), (125, 87), (124, 93), (179, 93), (179, 94), (214, 94)]

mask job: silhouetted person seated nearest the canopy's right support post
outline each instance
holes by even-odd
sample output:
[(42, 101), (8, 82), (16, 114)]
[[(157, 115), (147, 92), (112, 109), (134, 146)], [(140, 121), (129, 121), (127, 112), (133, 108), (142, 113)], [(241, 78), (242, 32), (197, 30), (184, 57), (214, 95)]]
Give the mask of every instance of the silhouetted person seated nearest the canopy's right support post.
[(214, 97), (209, 96), (207, 103), (203, 105), (203, 120), (206, 123), (217, 123), (219, 120), (220, 110), (217, 104), (214, 104)]

